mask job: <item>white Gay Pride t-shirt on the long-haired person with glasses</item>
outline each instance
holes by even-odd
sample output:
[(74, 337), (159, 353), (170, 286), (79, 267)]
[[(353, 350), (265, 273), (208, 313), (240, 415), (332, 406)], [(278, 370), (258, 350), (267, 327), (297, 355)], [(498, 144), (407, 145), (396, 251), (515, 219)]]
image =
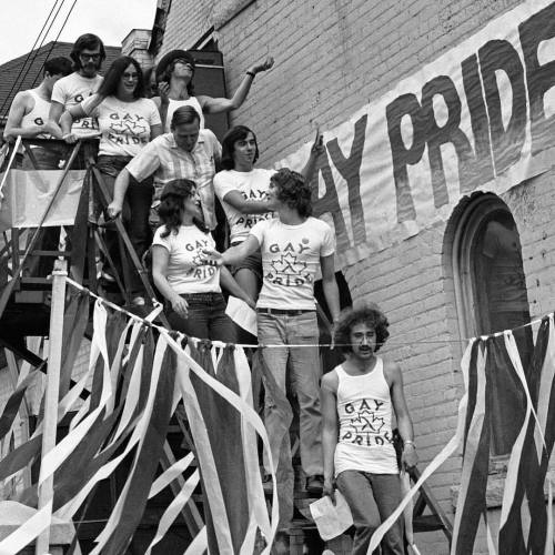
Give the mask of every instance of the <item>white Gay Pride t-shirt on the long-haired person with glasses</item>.
[(108, 157), (134, 157), (150, 141), (152, 125), (161, 124), (160, 112), (150, 99), (123, 102), (107, 97), (97, 108), (94, 97), (81, 102), (87, 115), (98, 120), (102, 133), (99, 154)]

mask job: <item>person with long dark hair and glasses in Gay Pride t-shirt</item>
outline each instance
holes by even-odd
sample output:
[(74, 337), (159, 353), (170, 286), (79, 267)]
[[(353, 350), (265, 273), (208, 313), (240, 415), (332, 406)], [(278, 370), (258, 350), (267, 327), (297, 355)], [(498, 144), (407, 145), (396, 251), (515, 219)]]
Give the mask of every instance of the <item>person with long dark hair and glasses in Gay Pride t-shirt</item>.
[[(120, 171), (139, 151), (162, 132), (160, 114), (152, 100), (145, 97), (145, 83), (139, 62), (128, 56), (114, 60), (97, 94), (85, 99), (81, 104), (64, 112), (60, 127), (63, 139), (68, 143), (77, 141), (71, 133), (74, 119), (94, 117), (101, 132), (97, 167), (110, 195), (113, 195), (113, 183)], [(139, 183), (131, 178), (123, 206), (123, 223), (133, 248), (141, 258), (151, 242), (151, 230), (148, 224), (152, 200), (152, 183)], [(111, 199), (108, 199), (111, 201)], [(100, 206), (95, 205), (95, 218)], [(121, 261), (118, 255), (118, 236), (107, 233), (108, 251), (120, 273)], [(104, 281), (113, 282), (113, 275), (105, 268)], [(139, 275), (132, 272), (131, 296), (134, 304), (144, 304), (141, 296), (142, 284)]]

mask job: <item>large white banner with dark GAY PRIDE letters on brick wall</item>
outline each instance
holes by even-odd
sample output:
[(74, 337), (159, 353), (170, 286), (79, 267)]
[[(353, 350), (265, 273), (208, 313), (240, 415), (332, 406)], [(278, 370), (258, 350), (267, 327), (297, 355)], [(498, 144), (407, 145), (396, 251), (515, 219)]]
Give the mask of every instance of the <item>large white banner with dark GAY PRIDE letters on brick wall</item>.
[[(325, 132), (314, 215), (334, 225), (339, 264), (546, 171), (554, 85), (555, 2), (528, 1)], [(302, 168), (309, 149), (276, 165)]]

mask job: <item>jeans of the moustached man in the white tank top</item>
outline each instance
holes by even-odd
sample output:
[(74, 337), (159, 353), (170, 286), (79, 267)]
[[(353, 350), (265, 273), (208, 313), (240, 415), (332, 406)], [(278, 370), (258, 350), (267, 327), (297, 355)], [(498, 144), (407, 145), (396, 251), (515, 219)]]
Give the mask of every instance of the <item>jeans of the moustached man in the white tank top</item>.
[[(344, 471), (336, 483), (353, 514), (352, 555), (366, 555), (372, 534), (401, 503), (398, 475)], [(381, 546), (383, 555), (405, 555), (402, 517), (387, 531)]]

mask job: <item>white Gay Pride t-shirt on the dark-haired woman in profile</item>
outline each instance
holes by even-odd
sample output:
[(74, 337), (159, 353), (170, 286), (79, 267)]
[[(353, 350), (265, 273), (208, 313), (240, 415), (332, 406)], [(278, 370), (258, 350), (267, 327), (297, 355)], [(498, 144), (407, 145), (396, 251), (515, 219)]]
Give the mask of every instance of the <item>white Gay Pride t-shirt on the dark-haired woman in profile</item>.
[(165, 225), (154, 233), (152, 244), (168, 249), (168, 282), (178, 294), (220, 293), (220, 269), (205, 261), (203, 249), (215, 249), (210, 233), (203, 233), (196, 225), (181, 225), (179, 233), (162, 238)]

